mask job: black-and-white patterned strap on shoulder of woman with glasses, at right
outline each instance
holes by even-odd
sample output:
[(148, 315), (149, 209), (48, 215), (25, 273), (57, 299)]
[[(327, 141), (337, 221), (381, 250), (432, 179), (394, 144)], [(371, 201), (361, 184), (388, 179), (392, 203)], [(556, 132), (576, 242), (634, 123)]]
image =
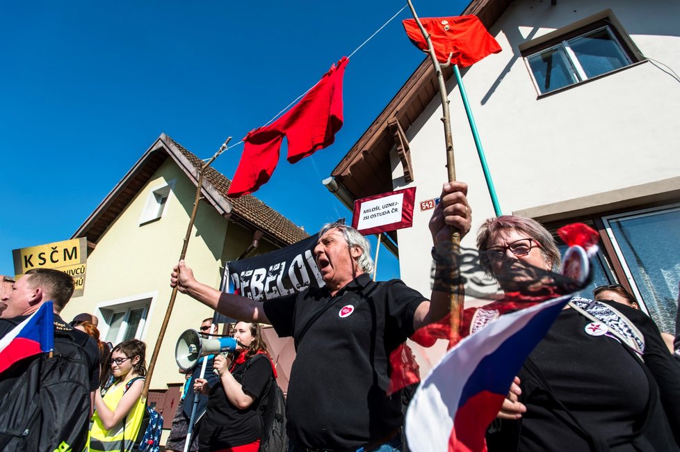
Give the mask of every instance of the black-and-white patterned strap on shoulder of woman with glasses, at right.
[(586, 300), (585, 298), (572, 298), (569, 301), (569, 306), (586, 318), (607, 325), (611, 334), (619, 339), (622, 344), (636, 352), (638, 358), (642, 359), (642, 353), (645, 353), (645, 337), (624, 314), (606, 303)]

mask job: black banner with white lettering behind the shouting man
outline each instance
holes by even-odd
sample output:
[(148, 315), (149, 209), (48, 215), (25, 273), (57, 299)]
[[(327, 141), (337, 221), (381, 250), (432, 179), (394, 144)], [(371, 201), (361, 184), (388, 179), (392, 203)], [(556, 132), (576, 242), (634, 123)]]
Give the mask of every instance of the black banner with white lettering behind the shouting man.
[[(264, 301), (291, 295), (309, 286), (323, 286), (314, 260), (317, 241), (318, 234), (314, 234), (280, 250), (227, 262), (220, 291)], [(218, 313), (213, 321), (234, 323), (233, 319)]]

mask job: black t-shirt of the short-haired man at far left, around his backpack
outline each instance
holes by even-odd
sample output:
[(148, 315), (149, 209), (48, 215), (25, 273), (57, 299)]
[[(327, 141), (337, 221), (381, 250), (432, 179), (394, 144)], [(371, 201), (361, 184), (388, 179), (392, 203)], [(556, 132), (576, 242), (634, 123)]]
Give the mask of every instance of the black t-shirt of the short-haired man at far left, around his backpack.
[[(0, 337), (5, 337), (5, 334), (13, 330), (15, 326), (22, 323), (29, 316), (18, 316), (15, 318), (0, 318)], [(80, 347), (83, 346), (83, 352), (88, 366), (88, 385), (90, 392), (96, 391), (99, 387), (99, 348), (95, 339), (92, 339), (88, 334), (80, 330), (72, 328), (71, 325), (65, 323), (60, 316), (54, 314), (54, 353), (60, 353), (62, 350), (60, 344), (67, 342)], [(17, 367), (17, 369), (19, 369)]]

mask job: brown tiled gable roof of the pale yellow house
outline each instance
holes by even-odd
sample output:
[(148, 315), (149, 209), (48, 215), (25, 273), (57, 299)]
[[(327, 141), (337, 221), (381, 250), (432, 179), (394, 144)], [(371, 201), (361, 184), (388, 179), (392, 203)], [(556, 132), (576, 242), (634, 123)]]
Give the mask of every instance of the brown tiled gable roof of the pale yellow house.
[[(111, 193), (108, 193), (85, 223), (79, 227), (73, 238), (86, 236), (88, 243), (95, 245), (108, 226), (118, 218), (168, 158), (173, 159), (189, 179), (197, 184), (203, 161), (169, 136), (161, 134)], [(244, 195), (237, 199), (228, 199), (229, 184), (231, 181), (214, 168), (209, 167), (205, 171), (202, 195), (204, 200), (209, 202), (220, 215), (246, 227), (259, 229), (264, 232), (264, 237), (268, 241), (282, 247), (309, 236), (304, 229), (294, 225), (291, 220), (258, 200), (257, 197)]]

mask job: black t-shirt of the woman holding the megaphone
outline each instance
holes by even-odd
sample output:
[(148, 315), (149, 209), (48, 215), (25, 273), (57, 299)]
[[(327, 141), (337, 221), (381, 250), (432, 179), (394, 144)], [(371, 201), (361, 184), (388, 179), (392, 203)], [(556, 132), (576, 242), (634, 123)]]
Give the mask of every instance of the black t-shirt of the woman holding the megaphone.
[(208, 405), (201, 423), (198, 438), (200, 451), (216, 451), (228, 447), (250, 444), (262, 437), (262, 396), (272, 379), (272, 364), (265, 355), (255, 355), (243, 364), (236, 364), (234, 379), (241, 383), (243, 392), (255, 397), (245, 410), (232, 405), (225, 394), (222, 382), (211, 388)]

